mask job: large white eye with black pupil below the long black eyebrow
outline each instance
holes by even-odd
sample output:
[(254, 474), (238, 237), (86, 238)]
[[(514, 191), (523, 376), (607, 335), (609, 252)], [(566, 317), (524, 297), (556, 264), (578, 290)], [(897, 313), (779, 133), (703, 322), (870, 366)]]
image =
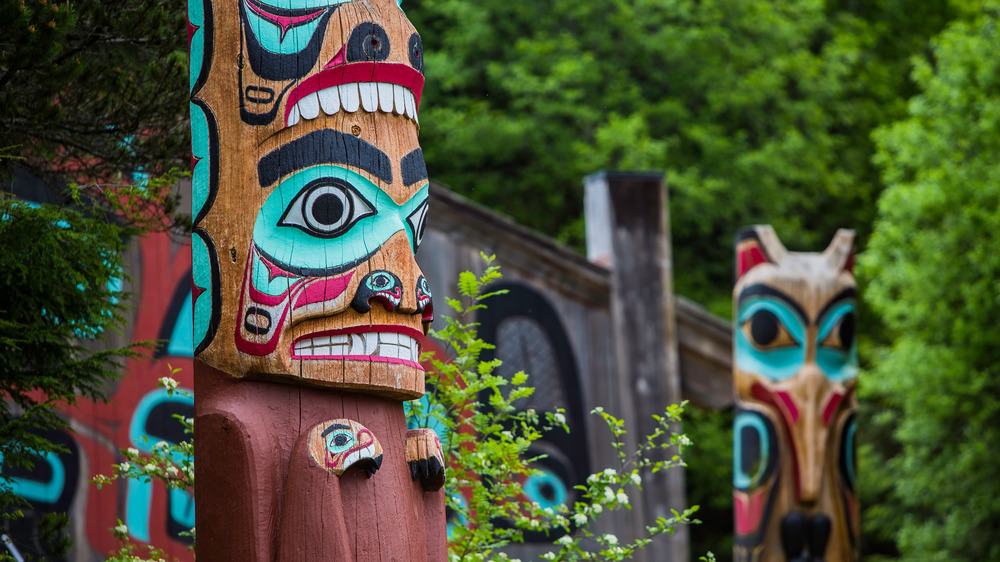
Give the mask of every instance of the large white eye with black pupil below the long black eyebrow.
[(294, 226), (318, 238), (336, 238), (376, 213), (354, 187), (339, 178), (307, 184), (289, 203), (278, 226)]

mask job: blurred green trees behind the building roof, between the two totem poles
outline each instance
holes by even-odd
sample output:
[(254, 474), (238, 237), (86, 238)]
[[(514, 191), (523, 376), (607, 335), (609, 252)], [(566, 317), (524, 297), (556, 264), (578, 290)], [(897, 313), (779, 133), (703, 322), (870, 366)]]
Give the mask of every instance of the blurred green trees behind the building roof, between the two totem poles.
[(582, 241), (581, 178), (662, 169), (678, 292), (728, 316), (732, 236), (773, 224), (862, 239), (871, 130), (899, 118), (908, 58), (952, 17), (925, 0), (407, 2), (426, 50), (432, 175)]

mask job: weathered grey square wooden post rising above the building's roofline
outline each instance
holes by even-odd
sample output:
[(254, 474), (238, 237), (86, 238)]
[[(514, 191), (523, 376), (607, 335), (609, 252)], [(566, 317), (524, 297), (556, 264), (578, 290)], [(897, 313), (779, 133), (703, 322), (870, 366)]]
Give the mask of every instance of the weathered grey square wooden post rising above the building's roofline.
[[(662, 173), (599, 172), (584, 183), (587, 257), (611, 269), (617, 373), (609, 376), (620, 385), (624, 410), (619, 413), (632, 430), (634, 447), (637, 438), (655, 430), (653, 414), (681, 401), (667, 188)], [(640, 529), (686, 507), (681, 469), (645, 474), (643, 488), (641, 498), (632, 498)], [(685, 526), (658, 541), (640, 559), (688, 559)]]

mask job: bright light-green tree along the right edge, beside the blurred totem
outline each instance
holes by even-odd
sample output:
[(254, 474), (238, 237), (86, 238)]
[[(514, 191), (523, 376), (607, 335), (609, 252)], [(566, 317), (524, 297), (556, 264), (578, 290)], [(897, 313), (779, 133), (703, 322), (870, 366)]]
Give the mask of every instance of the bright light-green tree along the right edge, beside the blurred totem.
[(1000, 558), (1000, 2), (916, 61), (909, 117), (875, 135), (887, 185), (860, 261), (893, 343), (864, 380), (896, 445), (866, 510), (905, 560)]

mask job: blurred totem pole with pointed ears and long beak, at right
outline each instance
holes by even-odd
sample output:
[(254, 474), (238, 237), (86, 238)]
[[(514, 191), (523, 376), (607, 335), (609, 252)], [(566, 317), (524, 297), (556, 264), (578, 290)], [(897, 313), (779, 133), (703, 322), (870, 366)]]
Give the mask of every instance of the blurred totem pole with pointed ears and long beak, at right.
[(854, 232), (789, 252), (770, 226), (736, 238), (734, 560), (858, 558)]

